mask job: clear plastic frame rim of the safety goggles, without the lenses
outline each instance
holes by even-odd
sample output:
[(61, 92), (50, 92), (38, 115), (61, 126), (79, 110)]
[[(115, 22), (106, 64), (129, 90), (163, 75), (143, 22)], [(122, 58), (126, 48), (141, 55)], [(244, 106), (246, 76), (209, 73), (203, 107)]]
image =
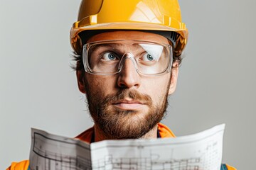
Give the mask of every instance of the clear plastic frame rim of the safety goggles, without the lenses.
[[(163, 74), (171, 72), (171, 67), (172, 67), (172, 63), (173, 63), (173, 55), (174, 55), (173, 46), (170, 45), (170, 44), (164, 44), (164, 43), (152, 42), (152, 41), (146, 41), (146, 40), (102, 40), (102, 41), (95, 41), (95, 42), (86, 43), (85, 45), (83, 45), (83, 48), (82, 48), (82, 62), (83, 62), (84, 68), (85, 68), (85, 72), (87, 72), (89, 74), (96, 74), (96, 75), (114, 75), (114, 74), (118, 74), (122, 71), (122, 67), (123, 67), (125, 61), (119, 63), (119, 67), (118, 67), (117, 72), (108, 72), (108, 73), (94, 72), (90, 68), (90, 64), (88, 62), (88, 51), (89, 51), (90, 47), (92, 45), (97, 45), (97, 44), (102, 44), (102, 43), (107, 43), (107, 42), (114, 42), (114, 43), (117, 43), (117, 42), (131, 42), (131, 44), (132, 44), (132, 42), (135, 42), (135, 43), (145, 42), (146, 44), (161, 45), (161, 46), (166, 48), (167, 52), (169, 52), (169, 55), (170, 55), (169, 65), (161, 73), (144, 74), (144, 73), (139, 71), (137, 61), (134, 59), (133, 55), (128, 55), (126, 58), (129, 58), (129, 59), (132, 60), (132, 62), (134, 63), (134, 67), (135, 67), (138, 74), (146, 76), (146, 77), (161, 76)], [(124, 53), (124, 55), (125, 54), (132, 54), (132, 52), (126, 52), (126, 53)], [(123, 59), (124, 55), (121, 57), (120, 61), (124, 60)]]

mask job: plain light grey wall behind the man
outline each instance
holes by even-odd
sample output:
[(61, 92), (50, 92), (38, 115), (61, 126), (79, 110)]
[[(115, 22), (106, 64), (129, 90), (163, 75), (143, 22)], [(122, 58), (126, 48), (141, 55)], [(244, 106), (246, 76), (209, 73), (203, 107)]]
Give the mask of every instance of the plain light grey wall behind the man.
[[(0, 169), (28, 159), (30, 128), (74, 137), (92, 125), (70, 69), (80, 0), (0, 0)], [(183, 0), (189, 40), (164, 123), (188, 135), (226, 123), (223, 162), (254, 169), (254, 0)]]

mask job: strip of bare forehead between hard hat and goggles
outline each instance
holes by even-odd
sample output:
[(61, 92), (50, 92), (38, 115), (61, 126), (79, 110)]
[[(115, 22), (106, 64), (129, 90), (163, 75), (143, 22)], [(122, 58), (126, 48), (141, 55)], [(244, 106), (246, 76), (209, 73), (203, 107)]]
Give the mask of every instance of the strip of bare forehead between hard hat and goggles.
[(89, 40), (87, 40), (87, 42), (95, 42), (102, 40), (146, 40), (151, 42), (169, 44), (167, 38), (161, 35), (129, 30), (100, 33), (92, 36)]

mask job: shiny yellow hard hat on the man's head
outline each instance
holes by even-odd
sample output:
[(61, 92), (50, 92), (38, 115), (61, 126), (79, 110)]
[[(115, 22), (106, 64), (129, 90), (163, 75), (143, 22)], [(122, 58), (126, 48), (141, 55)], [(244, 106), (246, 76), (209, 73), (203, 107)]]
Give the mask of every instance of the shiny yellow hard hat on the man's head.
[(78, 21), (73, 23), (70, 30), (70, 42), (75, 52), (82, 50), (80, 33), (84, 30), (176, 33), (176, 55), (181, 55), (188, 38), (186, 25), (181, 22), (178, 0), (82, 0)]

